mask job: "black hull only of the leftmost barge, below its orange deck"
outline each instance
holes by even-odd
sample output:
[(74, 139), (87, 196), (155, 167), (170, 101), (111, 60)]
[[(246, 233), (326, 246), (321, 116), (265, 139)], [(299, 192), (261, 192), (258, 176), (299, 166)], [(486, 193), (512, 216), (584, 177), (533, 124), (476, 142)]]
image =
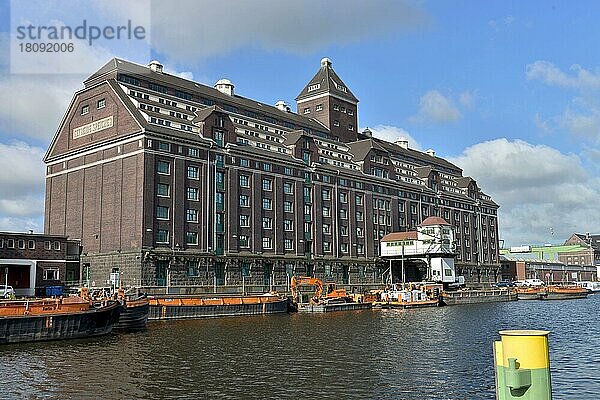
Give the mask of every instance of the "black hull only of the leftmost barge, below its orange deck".
[(0, 317), (0, 344), (101, 336), (119, 319), (119, 304), (74, 313)]

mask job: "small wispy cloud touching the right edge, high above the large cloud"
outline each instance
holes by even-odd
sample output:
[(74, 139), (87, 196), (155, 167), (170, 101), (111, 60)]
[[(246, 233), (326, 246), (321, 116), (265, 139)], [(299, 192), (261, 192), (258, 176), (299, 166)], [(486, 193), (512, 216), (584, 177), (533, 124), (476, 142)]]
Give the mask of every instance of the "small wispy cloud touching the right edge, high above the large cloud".
[(574, 75), (563, 72), (549, 61), (538, 60), (525, 68), (527, 79), (539, 80), (550, 86), (570, 89), (600, 89), (600, 72), (588, 71), (580, 65), (569, 68)]

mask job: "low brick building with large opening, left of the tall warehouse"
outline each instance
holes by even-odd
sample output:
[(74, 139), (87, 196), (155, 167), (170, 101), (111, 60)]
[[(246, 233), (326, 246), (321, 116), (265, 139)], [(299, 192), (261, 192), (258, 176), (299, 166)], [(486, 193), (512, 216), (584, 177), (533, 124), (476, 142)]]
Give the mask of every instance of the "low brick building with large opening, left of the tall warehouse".
[(36, 288), (78, 283), (79, 241), (66, 236), (0, 232), (0, 284), (19, 296), (33, 296)]

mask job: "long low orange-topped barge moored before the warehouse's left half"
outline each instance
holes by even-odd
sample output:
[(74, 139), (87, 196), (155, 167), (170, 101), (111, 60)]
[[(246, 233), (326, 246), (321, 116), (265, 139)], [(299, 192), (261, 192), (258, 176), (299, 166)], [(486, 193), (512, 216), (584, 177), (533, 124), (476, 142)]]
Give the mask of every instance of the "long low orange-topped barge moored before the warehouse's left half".
[(150, 296), (149, 320), (230, 317), (288, 312), (288, 299), (257, 296)]

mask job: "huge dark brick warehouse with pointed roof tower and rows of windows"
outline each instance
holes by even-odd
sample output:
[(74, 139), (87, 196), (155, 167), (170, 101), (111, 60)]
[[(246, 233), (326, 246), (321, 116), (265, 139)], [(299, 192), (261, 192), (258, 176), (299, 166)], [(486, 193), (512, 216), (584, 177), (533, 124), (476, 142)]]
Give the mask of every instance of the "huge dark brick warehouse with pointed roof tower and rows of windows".
[[(436, 157), (359, 133), (323, 59), (298, 113), (113, 59), (84, 81), (45, 157), (45, 231), (81, 239), (82, 273), (125, 284), (264, 289), (288, 277), (382, 282), (379, 239), (439, 215), (457, 273), (499, 274), (497, 209)], [(199, 289), (200, 290), (200, 289)]]

